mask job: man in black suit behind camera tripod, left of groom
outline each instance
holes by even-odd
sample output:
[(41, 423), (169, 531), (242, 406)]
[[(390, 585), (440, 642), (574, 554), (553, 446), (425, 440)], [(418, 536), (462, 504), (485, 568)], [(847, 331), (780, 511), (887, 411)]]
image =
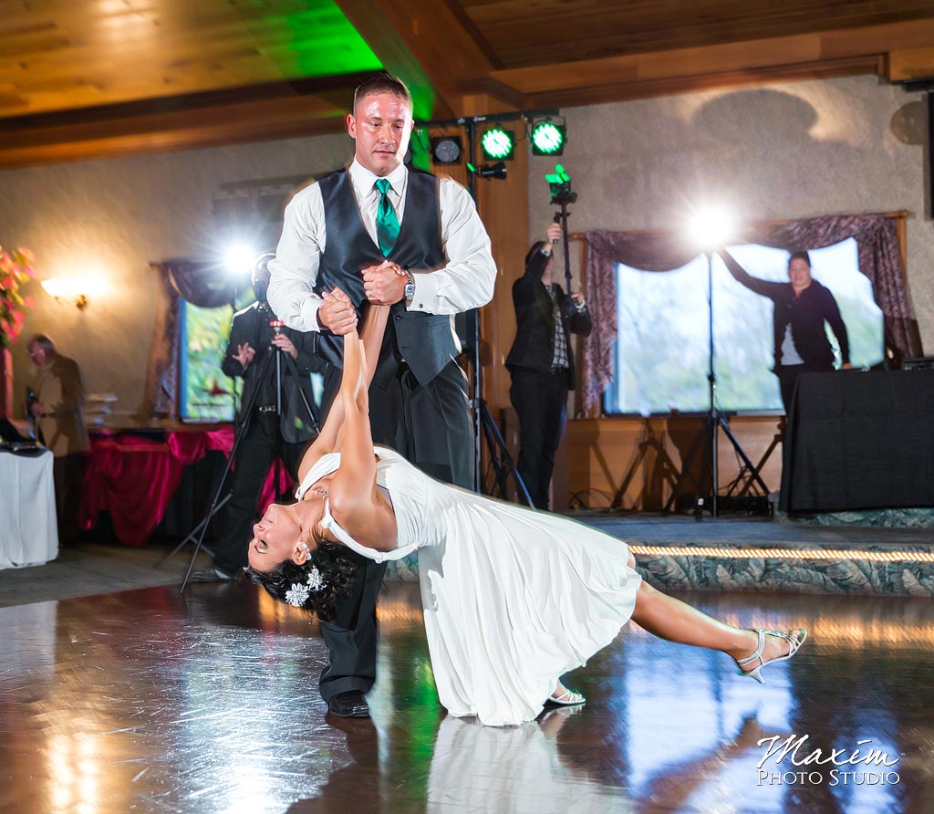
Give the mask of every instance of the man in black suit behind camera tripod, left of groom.
[[(237, 578), (247, 564), (247, 541), (257, 517), (262, 485), (269, 466), (281, 456), (292, 478), (298, 473), (302, 456), (315, 436), (319, 421), (312, 373), (323, 373), (327, 364), (315, 352), (315, 336), (274, 326), (276, 314), (266, 303), (269, 285), (267, 264), (272, 254), (263, 255), (253, 271), (256, 302), (233, 315), (227, 352), (221, 369), (227, 376), (243, 378), (241, 410), (252, 404), (248, 415), (237, 417), (242, 428), (233, 472), (231, 498), (223, 508), (220, 539), (214, 550), (214, 563), (204, 571), (195, 571), (192, 582), (223, 582)], [(298, 381), (285, 359), (276, 353), (288, 353), (298, 371)], [(267, 357), (264, 375), (262, 366)], [(279, 364), (276, 365), (276, 362)], [(276, 415), (276, 386), (281, 387), (281, 411)], [(309, 417), (302, 393), (312, 408)]]

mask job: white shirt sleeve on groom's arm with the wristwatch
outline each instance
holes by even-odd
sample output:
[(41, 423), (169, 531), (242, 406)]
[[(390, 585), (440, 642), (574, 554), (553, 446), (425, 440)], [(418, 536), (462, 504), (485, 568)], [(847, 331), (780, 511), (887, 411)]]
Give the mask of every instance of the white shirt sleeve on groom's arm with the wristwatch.
[(474, 199), (460, 184), (440, 179), (441, 241), (447, 264), (433, 271), (412, 269), (415, 296), (410, 311), (458, 314), (493, 298), (496, 263)]

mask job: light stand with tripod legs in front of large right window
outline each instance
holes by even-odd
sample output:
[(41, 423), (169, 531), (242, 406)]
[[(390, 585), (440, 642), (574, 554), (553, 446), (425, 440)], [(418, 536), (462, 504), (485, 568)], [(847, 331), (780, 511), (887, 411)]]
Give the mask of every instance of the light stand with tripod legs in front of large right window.
[(703, 458), (705, 461), (709, 461), (710, 463), (711, 493), (709, 504), (704, 501), (703, 497), (699, 498), (697, 514), (698, 520), (701, 520), (702, 517), (701, 506), (709, 506), (711, 516), (718, 516), (717, 493), (719, 492), (719, 475), (717, 472), (717, 467), (719, 462), (717, 460), (717, 435), (720, 430), (723, 430), (724, 435), (729, 439), (729, 443), (732, 444), (733, 449), (736, 450), (736, 454), (739, 455), (743, 461), (743, 473), (748, 471), (749, 478), (751, 478), (751, 480), (755, 480), (762, 492), (765, 494), (769, 493), (769, 489), (765, 485), (765, 481), (763, 481), (759, 475), (756, 465), (753, 464), (751, 460), (749, 460), (749, 456), (746, 455), (746, 453), (743, 451), (743, 446), (737, 440), (736, 436), (733, 435), (732, 430), (730, 430), (729, 421), (727, 421), (724, 414), (716, 407), (716, 374), (714, 372), (714, 254), (712, 251), (707, 252), (707, 306), (707, 337), (709, 341), (707, 387), (709, 409), (707, 410), (707, 417), (704, 422), (704, 430), (700, 436), (695, 438), (694, 443), (691, 444), (690, 450), (688, 450), (685, 456), (685, 460), (682, 462), (684, 468), (681, 471), (681, 475), (678, 477), (677, 482), (674, 484), (674, 488), (672, 489), (671, 496), (668, 498), (668, 502), (662, 509), (664, 512), (670, 511), (672, 504), (677, 499), (678, 493), (681, 490), (681, 486), (685, 482), (685, 479), (687, 477), (690, 477), (692, 480), (694, 479), (693, 475), (690, 473), (690, 469), (694, 464), (694, 459), (696, 458), (697, 454), (701, 451), (701, 449), (703, 449)]

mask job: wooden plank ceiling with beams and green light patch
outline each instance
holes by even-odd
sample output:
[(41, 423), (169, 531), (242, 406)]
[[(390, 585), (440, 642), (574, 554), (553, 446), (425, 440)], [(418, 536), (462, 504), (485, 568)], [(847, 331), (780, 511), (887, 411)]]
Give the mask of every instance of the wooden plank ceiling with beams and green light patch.
[(0, 167), (782, 79), (934, 77), (932, 0), (0, 0)]

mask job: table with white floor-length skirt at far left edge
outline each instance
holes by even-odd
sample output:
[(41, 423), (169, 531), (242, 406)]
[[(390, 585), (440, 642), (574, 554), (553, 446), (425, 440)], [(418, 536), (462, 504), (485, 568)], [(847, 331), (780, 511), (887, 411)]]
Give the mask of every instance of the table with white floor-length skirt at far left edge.
[(58, 550), (52, 453), (0, 450), (0, 568), (48, 563)]

